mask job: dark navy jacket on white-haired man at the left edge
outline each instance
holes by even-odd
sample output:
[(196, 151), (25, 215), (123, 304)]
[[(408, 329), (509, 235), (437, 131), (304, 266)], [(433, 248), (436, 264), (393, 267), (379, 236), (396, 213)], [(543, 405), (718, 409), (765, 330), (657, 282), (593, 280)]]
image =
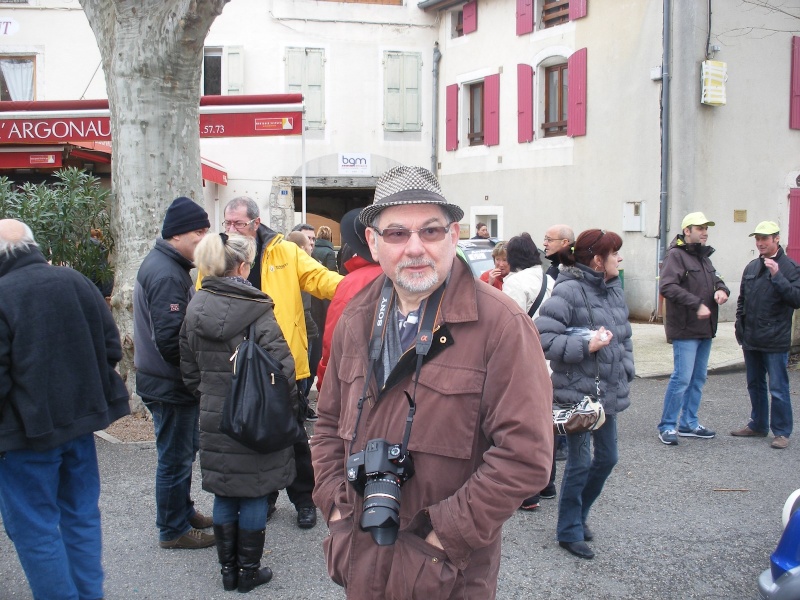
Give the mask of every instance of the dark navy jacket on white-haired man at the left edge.
[(36, 247), (0, 259), (0, 453), (50, 450), (130, 413), (95, 285)]

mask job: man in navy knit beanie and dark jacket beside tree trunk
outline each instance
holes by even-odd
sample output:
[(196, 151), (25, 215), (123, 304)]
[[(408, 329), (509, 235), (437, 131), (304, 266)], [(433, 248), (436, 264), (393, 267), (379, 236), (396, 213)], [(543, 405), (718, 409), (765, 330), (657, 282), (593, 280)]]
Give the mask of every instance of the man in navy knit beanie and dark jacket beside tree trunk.
[(156, 525), (162, 548), (207, 548), (200, 531), (211, 518), (194, 509), (190, 492), (198, 448), (198, 402), (181, 378), (180, 331), (194, 288), (194, 250), (208, 231), (208, 214), (185, 197), (167, 209), (156, 240), (136, 275), (133, 334), (136, 392), (153, 415), (158, 451)]

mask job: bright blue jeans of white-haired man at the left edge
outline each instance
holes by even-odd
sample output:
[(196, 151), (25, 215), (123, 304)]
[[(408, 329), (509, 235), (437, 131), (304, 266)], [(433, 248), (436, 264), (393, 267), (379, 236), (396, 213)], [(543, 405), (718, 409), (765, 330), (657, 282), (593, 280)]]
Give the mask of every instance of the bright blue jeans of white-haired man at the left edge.
[(94, 435), (0, 453), (0, 514), (36, 600), (103, 597)]

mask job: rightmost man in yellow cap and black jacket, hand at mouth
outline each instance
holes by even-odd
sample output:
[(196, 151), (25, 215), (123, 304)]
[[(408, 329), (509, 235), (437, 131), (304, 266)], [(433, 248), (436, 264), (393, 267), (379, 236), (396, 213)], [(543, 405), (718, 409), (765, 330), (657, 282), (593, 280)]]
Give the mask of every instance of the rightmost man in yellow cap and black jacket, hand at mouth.
[(771, 446), (783, 450), (792, 435), (787, 367), (792, 313), (800, 308), (800, 266), (786, 256), (779, 234), (780, 228), (773, 221), (762, 221), (750, 234), (756, 238), (759, 257), (750, 261), (742, 275), (736, 302), (736, 340), (744, 350), (751, 411), (747, 425), (731, 431), (731, 435), (766, 437), (771, 427), (775, 436)]

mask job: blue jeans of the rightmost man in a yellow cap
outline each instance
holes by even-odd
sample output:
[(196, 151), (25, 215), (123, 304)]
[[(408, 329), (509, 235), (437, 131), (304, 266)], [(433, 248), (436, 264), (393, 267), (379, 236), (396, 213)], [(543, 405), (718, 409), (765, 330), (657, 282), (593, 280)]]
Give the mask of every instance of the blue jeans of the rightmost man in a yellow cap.
[[(772, 423), (776, 436), (792, 435), (792, 400), (789, 396), (788, 352), (744, 351), (747, 370), (747, 391), (750, 393), (749, 427), (753, 431), (766, 433)], [(767, 394), (769, 377), (769, 394)], [(770, 414), (769, 396), (772, 396)]]

